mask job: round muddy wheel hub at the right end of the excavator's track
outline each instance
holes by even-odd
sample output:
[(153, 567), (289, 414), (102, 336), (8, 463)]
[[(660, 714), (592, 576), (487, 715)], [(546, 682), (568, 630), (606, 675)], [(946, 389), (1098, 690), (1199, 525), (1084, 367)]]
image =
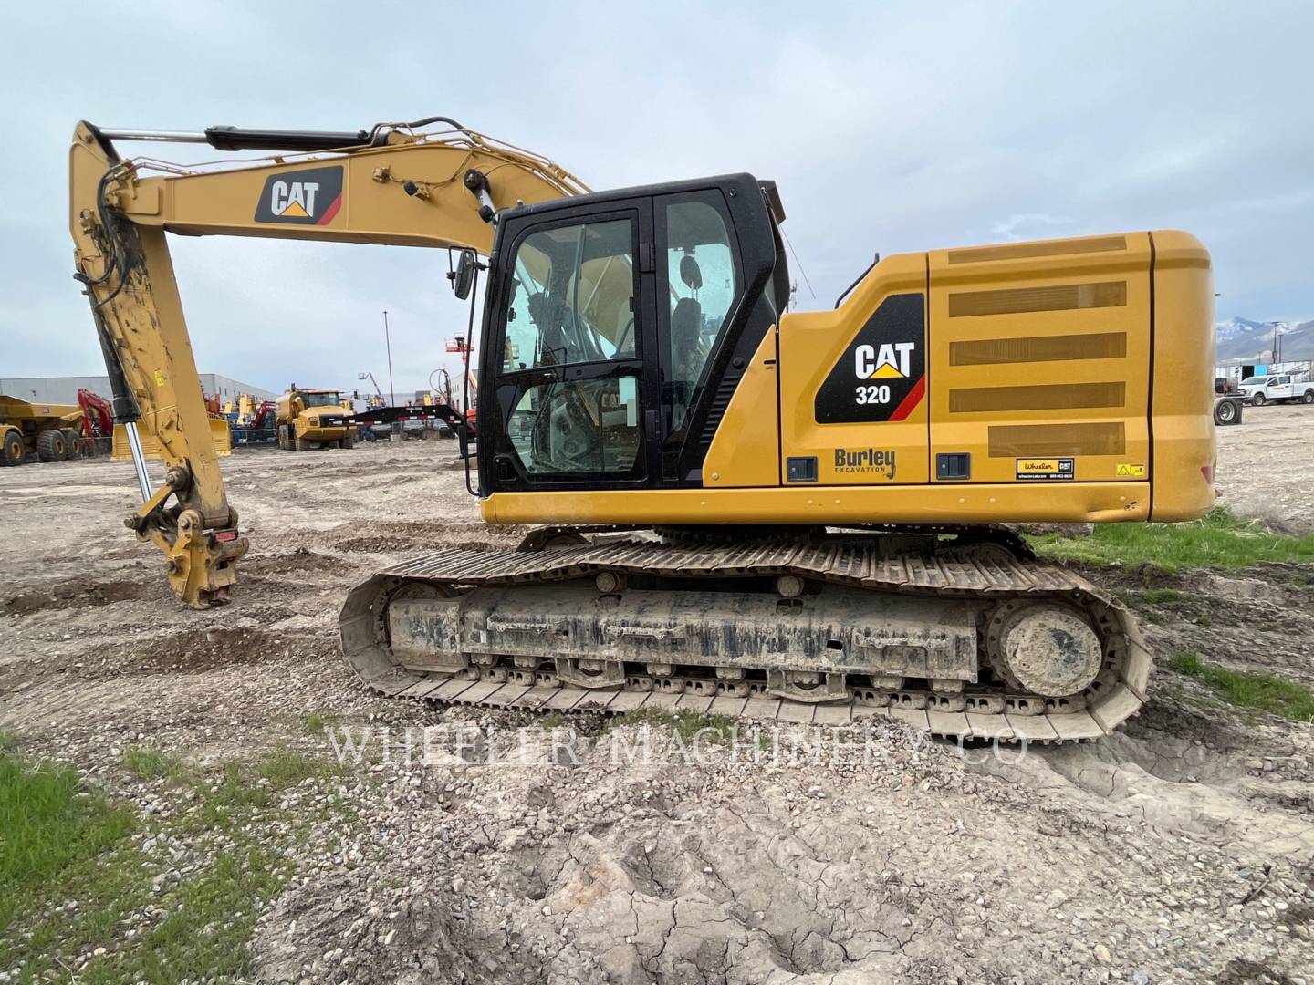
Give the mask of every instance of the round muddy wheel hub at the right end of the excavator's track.
[(991, 663), (1020, 691), (1045, 697), (1077, 695), (1104, 665), (1089, 620), (1055, 603), (1008, 603), (989, 625)]

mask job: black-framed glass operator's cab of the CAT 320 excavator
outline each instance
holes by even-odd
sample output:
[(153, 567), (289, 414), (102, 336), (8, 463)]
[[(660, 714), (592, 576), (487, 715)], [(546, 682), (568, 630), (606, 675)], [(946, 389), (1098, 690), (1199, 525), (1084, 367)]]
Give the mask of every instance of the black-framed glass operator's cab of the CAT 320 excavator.
[(788, 282), (769, 184), (622, 189), (498, 217), (480, 494), (702, 485)]

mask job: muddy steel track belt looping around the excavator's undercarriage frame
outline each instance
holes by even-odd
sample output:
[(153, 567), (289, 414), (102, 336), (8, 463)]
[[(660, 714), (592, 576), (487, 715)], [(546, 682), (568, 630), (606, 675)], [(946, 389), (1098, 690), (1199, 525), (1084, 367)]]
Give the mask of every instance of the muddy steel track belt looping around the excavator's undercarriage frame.
[[(624, 713), (637, 708), (691, 708), (736, 717), (844, 724), (888, 714), (937, 735), (1029, 742), (1101, 738), (1144, 704), (1152, 658), (1135, 619), (1114, 596), (1046, 561), (1017, 557), (1001, 544), (940, 541), (907, 548), (907, 537), (832, 535), (812, 542), (670, 546), (650, 540), (585, 544), (540, 552), (449, 548), (380, 571), (347, 596), (340, 617), (343, 653), (361, 680), (386, 696), (555, 712)], [(934, 541), (932, 541), (934, 544)], [(1008, 545), (1012, 548), (1012, 544)], [(716, 697), (656, 691), (598, 691), (569, 684), (524, 686), (426, 675), (396, 666), (386, 649), (388, 598), (403, 584), (442, 587), (532, 584), (587, 578), (599, 571), (649, 578), (777, 577), (794, 574), (872, 591), (955, 598), (1058, 598), (1083, 607), (1105, 638), (1109, 672), (1087, 692), (1084, 708), (1049, 703), (1039, 714), (945, 712), (874, 707), (858, 701), (812, 704), (779, 697)], [(1041, 699), (1043, 700), (1043, 699)]]

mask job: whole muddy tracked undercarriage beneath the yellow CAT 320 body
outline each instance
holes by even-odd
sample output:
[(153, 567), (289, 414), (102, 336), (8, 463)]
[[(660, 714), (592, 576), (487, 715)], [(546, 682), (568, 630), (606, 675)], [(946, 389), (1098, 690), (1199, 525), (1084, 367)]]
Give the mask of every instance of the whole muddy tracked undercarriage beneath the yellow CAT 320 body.
[(389, 696), (1000, 741), (1100, 738), (1152, 667), (1117, 599), (1000, 527), (536, 531), (381, 571), (340, 630)]

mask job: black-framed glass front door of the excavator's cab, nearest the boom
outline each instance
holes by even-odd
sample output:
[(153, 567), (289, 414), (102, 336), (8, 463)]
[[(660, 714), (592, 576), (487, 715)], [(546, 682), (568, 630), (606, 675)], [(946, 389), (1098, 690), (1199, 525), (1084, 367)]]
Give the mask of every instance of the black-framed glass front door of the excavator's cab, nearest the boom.
[(499, 235), (487, 491), (646, 485), (660, 474), (649, 200), (528, 215)]

